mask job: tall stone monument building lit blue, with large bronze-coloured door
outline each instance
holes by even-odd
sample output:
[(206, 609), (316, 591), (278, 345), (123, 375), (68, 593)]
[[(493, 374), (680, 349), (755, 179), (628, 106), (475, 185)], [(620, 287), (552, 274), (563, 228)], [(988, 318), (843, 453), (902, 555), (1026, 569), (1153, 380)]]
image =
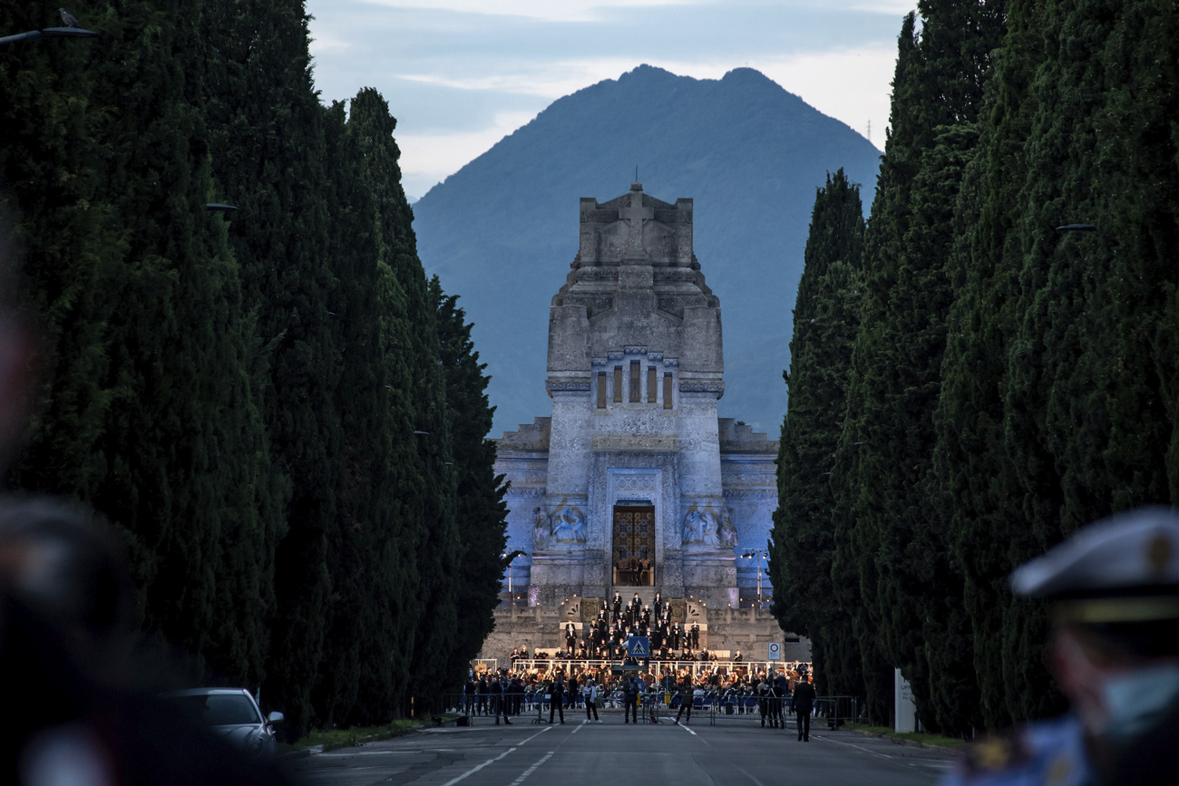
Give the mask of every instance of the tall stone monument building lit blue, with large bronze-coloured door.
[(508, 616), (547, 609), (564, 623), (579, 601), (597, 610), (614, 592), (656, 590), (702, 621), (745, 608), (765, 627), (778, 443), (717, 415), (720, 303), (693, 253), (692, 200), (660, 202), (638, 183), (581, 199), (579, 239), (549, 308), (552, 416), (496, 442), (508, 549), (523, 554), (498, 632), (512, 635)]

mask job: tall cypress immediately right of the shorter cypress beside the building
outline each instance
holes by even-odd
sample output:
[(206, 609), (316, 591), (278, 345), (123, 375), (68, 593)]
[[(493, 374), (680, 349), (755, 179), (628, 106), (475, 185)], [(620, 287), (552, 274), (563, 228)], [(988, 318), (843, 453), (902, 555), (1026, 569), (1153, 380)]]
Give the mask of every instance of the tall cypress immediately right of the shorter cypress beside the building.
[[(859, 569), (861, 635), (911, 681), (918, 714), (933, 728), (964, 733), (975, 724), (961, 581), (926, 476), (935, 442), (953, 207), (974, 143), (989, 51), (1003, 4), (921, 2), (921, 35), (905, 18), (894, 80), (891, 127), (865, 236), (862, 330), (854, 355), (845, 442), (849, 544)], [(871, 669), (869, 669), (871, 671)], [(876, 691), (884, 689), (876, 682)], [(890, 696), (872, 695), (875, 712)]]

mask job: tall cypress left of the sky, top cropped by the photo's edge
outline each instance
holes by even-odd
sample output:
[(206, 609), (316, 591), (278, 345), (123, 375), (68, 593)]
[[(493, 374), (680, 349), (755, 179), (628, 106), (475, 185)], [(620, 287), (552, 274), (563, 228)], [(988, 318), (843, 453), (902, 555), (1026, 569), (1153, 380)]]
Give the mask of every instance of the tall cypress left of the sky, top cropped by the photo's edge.
[(215, 0), (205, 16), (210, 148), (218, 196), (237, 205), (230, 243), (264, 345), (253, 372), (275, 468), (268, 477), (274, 610), (263, 693), (296, 738), (314, 719), (323, 658), (328, 537), (340, 516), (343, 436), (335, 390), (338, 285), (328, 229), (324, 110), (298, 0)]

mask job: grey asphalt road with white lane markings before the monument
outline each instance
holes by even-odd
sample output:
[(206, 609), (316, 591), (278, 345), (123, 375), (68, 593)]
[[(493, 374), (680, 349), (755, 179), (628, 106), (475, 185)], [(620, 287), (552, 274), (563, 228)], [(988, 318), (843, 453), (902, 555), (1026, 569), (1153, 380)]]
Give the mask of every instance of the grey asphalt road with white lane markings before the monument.
[(763, 729), (756, 719), (710, 726), (704, 715), (691, 726), (634, 726), (617, 711), (604, 712), (601, 724), (585, 724), (584, 712), (571, 711), (565, 720), (495, 726), (477, 718), (468, 728), (434, 728), (288, 765), (308, 786), (893, 786), (936, 784), (949, 766), (938, 751), (825, 727), (812, 727), (810, 742), (799, 742), (792, 724), (786, 732)]

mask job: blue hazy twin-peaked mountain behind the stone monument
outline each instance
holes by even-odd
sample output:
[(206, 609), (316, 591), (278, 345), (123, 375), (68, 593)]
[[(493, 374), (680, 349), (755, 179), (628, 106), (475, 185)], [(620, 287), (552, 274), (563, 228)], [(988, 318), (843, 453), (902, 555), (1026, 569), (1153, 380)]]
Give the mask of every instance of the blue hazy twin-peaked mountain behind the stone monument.
[[(414, 204), (427, 273), (474, 322), (498, 407), (492, 436), (548, 415), (548, 305), (578, 251), (580, 197), (694, 199), (720, 298), (723, 417), (777, 434), (791, 309), (816, 189), (843, 167), (870, 194), (880, 151), (752, 68), (722, 79), (639, 66), (566, 95)], [(865, 198), (870, 203), (870, 198)]]

